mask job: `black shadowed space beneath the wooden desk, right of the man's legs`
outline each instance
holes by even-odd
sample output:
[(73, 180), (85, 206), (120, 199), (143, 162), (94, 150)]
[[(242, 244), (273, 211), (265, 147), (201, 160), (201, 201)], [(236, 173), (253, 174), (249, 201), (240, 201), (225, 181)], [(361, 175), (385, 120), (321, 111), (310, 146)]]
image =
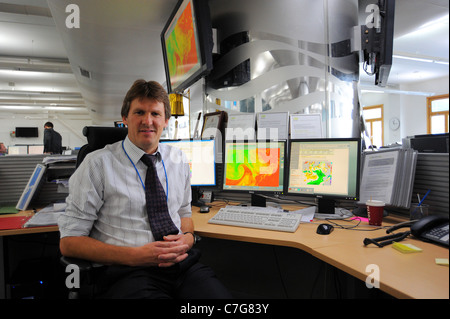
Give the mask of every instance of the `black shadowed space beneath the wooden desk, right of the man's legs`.
[(239, 299), (392, 298), (301, 250), (202, 238), (201, 262)]

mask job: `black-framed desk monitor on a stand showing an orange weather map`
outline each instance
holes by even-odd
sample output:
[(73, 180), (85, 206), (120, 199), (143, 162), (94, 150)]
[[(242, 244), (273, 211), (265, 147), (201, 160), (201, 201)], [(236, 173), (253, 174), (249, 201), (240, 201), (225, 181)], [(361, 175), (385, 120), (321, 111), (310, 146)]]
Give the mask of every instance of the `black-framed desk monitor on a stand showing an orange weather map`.
[(286, 141), (226, 141), (224, 191), (252, 194), (253, 206), (265, 206), (258, 193), (284, 193)]

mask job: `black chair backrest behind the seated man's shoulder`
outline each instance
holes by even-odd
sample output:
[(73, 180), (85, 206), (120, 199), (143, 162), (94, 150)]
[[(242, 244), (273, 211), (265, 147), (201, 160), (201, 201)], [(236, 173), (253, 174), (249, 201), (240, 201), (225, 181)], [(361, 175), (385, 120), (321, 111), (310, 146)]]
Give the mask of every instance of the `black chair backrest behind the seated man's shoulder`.
[(90, 152), (101, 149), (108, 144), (121, 141), (125, 139), (127, 134), (128, 128), (126, 127), (85, 126), (83, 128), (83, 135), (86, 136), (88, 143), (80, 148), (76, 167), (81, 164)]

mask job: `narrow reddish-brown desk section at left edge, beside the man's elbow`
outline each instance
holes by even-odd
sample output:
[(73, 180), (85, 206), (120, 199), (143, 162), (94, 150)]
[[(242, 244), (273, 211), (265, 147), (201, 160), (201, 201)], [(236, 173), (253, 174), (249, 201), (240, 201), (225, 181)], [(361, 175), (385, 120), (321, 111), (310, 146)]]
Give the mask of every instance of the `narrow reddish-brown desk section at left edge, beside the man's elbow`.
[[(29, 216), (30, 214), (33, 214), (33, 212), (32, 211), (21, 211), (17, 214), (0, 215), (0, 218)], [(0, 230), (0, 299), (6, 298), (5, 271), (6, 271), (7, 267), (6, 267), (4, 237), (14, 236), (14, 235), (36, 234), (36, 233), (48, 233), (48, 232), (56, 232), (56, 231), (58, 231), (58, 226), (44, 226), (44, 227), (31, 227), (31, 228)]]

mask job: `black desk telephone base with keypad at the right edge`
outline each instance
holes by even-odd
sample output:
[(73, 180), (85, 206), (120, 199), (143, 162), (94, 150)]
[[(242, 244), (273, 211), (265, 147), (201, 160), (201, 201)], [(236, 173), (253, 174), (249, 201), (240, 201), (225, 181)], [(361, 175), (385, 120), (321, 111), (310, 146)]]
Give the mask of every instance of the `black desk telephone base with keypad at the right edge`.
[(415, 237), (448, 247), (449, 218), (430, 215), (411, 225), (411, 234)]

